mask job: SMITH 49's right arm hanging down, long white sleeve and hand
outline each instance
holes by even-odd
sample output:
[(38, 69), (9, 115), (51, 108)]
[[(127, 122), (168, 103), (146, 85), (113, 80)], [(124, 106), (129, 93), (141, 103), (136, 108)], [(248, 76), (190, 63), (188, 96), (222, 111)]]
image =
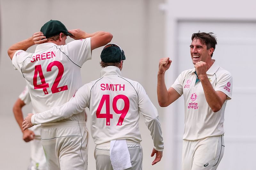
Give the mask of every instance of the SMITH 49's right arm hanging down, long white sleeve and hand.
[(154, 149), (151, 153), (151, 156), (156, 154), (156, 158), (152, 162), (152, 165), (154, 165), (159, 162), (163, 156), (162, 152), (164, 150), (164, 142), (162, 137), (162, 129), (158, 120), (158, 112), (156, 107), (150, 101), (146, 91), (141, 85), (138, 87), (138, 97), (140, 113), (145, 118), (145, 124), (150, 130), (150, 135), (154, 143)]

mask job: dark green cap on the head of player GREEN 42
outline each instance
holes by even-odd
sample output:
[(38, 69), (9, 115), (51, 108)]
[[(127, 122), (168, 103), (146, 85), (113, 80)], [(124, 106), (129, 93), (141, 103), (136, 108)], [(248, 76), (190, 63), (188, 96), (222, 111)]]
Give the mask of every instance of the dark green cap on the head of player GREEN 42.
[(60, 33), (65, 33), (66, 35), (72, 35), (71, 33), (68, 33), (68, 30), (64, 24), (62, 24), (58, 20), (50, 20), (46, 22), (40, 30), (42, 33), (44, 33), (44, 36), (46, 38), (52, 37), (54, 35), (59, 35)]

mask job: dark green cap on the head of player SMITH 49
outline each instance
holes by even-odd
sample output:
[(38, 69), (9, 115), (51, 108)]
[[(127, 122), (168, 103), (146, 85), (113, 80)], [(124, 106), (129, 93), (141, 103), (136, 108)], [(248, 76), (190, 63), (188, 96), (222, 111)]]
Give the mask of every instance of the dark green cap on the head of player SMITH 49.
[[(111, 45), (111, 46), (109, 46)], [(124, 51), (116, 44), (107, 44), (100, 54), (101, 61), (104, 63), (120, 63), (125, 60)], [(106, 47), (105, 46), (105, 47)]]

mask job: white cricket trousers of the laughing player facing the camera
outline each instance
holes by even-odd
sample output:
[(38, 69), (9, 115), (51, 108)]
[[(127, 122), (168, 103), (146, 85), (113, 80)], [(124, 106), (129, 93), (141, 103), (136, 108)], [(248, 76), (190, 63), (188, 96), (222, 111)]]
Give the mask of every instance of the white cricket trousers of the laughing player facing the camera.
[(182, 170), (216, 170), (224, 154), (224, 135), (183, 140)]

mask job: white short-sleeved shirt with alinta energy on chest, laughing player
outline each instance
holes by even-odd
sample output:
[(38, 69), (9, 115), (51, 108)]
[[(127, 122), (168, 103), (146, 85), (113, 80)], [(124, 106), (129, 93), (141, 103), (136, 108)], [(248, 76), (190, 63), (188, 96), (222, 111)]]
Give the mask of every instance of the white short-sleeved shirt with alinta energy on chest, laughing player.
[(205, 137), (224, 134), (223, 122), (227, 100), (232, 98), (233, 78), (215, 61), (206, 74), (215, 91), (227, 95), (227, 99), (218, 112), (213, 112), (206, 102), (201, 81), (196, 83), (196, 69), (181, 72), (173, 87), (184, 96), (185, 129), (183, 139), (199, 140)]

